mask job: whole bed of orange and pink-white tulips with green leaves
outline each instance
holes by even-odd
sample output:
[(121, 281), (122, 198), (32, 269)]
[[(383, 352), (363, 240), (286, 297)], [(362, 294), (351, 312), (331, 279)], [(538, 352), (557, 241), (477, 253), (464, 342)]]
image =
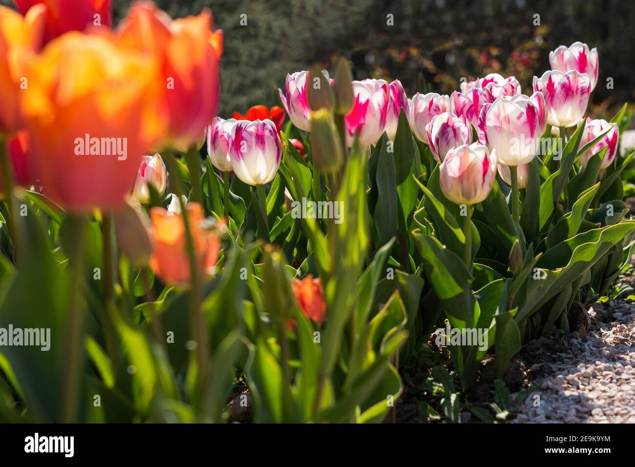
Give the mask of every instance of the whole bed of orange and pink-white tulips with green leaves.
[(210, 11), (22, 13), (0, 7), (0, 419), (394, 421), (414, 364), (458, 421), (455, 382), (578, 331), (628, 265), (631, 114), (585, 118), (586, 44), (526, 94), (408, 98), (340, 60), (225, 119)]

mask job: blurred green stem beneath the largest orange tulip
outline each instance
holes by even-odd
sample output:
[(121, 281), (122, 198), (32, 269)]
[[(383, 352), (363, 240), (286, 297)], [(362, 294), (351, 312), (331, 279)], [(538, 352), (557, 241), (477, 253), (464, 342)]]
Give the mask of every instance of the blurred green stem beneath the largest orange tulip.
[(60, 411), (63, 423), (77, 421), (79, 408), (79, 375), (81, 374), (81, 356), (84, 346), (84, 310), (82, 293), (82, 274), (84, 271), (84, 220), (70, 217), (72, 222), (72, 251), (69, 259), (72, 264), (70, 283), (70, 306), (66, 315), (64, 336), (64, 376), (60, 392)]

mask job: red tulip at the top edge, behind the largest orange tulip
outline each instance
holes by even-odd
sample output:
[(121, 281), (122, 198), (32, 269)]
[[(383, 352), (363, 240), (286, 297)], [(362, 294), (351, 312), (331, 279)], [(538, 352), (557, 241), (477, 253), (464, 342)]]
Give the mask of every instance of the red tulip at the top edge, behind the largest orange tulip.
[(44, 43), (71, 30), (89, 26), (112, 26), (110, 0), (15, 0), (23, 15), (34, 5), (46, 8)]

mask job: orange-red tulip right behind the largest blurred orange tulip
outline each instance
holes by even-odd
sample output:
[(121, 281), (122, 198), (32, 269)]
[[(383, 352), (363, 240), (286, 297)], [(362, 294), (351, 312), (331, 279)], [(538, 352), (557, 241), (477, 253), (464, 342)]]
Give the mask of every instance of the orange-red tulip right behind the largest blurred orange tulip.
[(168, 121), (163, 147), (200, 142), (216, 115), (223, 36), (212, 28), (210, 10), (173, 21), (150, 1), (133, 4), (119, 25), (121, 43), (159, 62), (163, 92), (157, 111)]

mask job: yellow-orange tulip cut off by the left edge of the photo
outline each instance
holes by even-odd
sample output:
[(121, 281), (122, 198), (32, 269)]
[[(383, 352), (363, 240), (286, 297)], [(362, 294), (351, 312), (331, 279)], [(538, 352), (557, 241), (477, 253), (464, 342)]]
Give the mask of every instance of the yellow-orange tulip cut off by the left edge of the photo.
[(31, 8), (25, 17), (0, 6), (0, 133), (21, 125), (20, 96), (28, 88), (25, 73), (30, 58), (41, 47), (46, 8)]

